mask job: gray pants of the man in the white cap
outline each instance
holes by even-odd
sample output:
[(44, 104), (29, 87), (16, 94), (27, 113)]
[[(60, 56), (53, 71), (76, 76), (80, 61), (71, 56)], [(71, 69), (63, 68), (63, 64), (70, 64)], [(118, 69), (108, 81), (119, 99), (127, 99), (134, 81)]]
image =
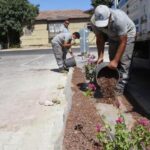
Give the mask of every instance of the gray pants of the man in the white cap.
[[(125, 51), (118, 64), (118, 71), (120, 74), (120, 79), (116, 86), (116, 90), (118, 90), (120, 93), (124, 92), (125, 86), (129, 79), (129, 70), (130, 70), (130, 65), (131, 65), (133, 49), (134, 49), (134, 41), (135, 41), (135, 38), (128, 38)], [(110, 60), (112, 60), (115, 57), (118, 46), (119, 46), (119, 42), (110, 40), (110, 46), (109, 46), (109, 59)]]

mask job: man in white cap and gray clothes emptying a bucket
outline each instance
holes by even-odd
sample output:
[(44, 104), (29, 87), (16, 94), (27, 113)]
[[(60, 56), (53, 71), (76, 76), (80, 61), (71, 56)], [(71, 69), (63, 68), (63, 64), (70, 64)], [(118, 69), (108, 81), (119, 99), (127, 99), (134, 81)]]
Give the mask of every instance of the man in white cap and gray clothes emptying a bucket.
[(111, 9), (105, 5), (96, 7), (91, 23), (96, 35), (97, 63), (103, 62), (104, 45), (108, 41), (110, 58), (108, 67), (110, 69), (118, 68), (120, 79), (116, 86), (116, 94), (122, 95), (129, 79), (129, 68), (136, 35), (135, 25), (122, 10)]

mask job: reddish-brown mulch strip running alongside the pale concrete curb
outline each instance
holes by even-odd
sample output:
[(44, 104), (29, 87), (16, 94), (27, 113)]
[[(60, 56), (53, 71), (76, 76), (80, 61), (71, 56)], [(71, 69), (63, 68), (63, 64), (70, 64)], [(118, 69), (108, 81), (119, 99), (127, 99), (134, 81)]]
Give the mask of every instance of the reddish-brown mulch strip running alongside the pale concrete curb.
[(85, 97), (78, 87), (85, 83), (79, 68), (74, 70), (72, 83), (74, 95), (66, 123), (64, 150), (102, 150), (96, 142), (96, 125), (100, 123), (100, 117), (94, 102)]

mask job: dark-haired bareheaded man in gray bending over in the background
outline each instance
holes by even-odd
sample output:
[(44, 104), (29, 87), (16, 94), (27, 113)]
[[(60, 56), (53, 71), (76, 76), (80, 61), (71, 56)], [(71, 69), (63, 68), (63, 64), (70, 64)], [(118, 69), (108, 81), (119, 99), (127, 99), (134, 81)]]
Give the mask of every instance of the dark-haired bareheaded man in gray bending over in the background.
[(71, 42), (72, 40), (79, 39), (80, 34), (78, 32), (71, 33), (59, 33), (52, 39), (52, 48), (53, 52), (59, 67), (60, 72), (68, 71), (68, 68), (65, 66), (66, 57), (64, 49), (71, 48), (72, 45), (76, 44)]

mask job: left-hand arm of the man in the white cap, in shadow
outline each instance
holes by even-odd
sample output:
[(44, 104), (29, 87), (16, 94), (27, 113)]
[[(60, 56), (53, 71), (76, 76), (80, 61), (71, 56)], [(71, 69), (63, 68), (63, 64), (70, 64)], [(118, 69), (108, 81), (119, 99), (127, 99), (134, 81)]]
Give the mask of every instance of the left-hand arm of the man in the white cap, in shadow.
[(96, 45), (98, 50), (97, 64), (103, 62), (105, 40), (102, 34), (96, 35)]

